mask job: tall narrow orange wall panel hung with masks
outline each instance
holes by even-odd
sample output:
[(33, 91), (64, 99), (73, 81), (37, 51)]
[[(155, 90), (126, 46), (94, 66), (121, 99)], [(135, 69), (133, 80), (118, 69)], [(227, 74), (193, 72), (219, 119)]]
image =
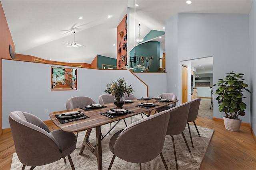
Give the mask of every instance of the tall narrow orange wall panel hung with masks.
[[(124, 41), (124, 36), (127, 34), (127, 28), (125, 29), (125, 21), (126, 21), (126, 17), (127, 17), (127, 14), (124, 16), (124, 18), (122, 19), (122, 21), (119, 23), (119, 25), (117, 26), (117, 60), (116, 60), (116, 65), (117, 65), (117, 69), (121, 69), (122, 66), (125, 66), (125, 63), (126, 63), (126, 58), (127, 58), (127, 51), (126, 51), (126, 48), (123, 49), (122, 45), (123, 44), (126, 44), (127, 45), (127, 39), (125, 39)], [(124, 35), (122, 37), (120, 37), (120, 30), (123, 30), (124, 32)], [(126, 36), (128, 37), (128, 35)], [(120, 46), (119, 46), (119, 42), (120, 42)], [(118, 49), (119, 47), (121, 48), (121, 53), (118, 53)], [(126, 55), (126, 57), (124, 58), (124, 61), (122, 61), (122, 55)], [(120, 63), (119, 63), (120, 61)]]

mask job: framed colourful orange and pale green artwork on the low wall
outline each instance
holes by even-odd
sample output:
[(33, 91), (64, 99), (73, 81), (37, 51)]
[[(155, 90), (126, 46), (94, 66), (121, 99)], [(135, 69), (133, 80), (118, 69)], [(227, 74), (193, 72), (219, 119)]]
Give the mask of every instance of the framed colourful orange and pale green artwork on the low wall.
[(77, 90), (77, 69), (51, 67), (51, 91)]

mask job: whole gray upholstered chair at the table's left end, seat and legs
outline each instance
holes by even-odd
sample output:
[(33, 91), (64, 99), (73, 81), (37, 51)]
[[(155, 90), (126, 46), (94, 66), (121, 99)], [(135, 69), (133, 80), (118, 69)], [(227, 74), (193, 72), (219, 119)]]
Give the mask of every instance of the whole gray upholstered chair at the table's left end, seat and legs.
[(51, 131), (46, 124), (30, 113), (14, 111), (9, 114), (9, 123), (15, 149), (22, 170), (31, 166), (50, 164), (68, 156), (68, 160), (74, 170), (70, 154), (76, 149), (76, 136), (73, 133), (62, 130)]

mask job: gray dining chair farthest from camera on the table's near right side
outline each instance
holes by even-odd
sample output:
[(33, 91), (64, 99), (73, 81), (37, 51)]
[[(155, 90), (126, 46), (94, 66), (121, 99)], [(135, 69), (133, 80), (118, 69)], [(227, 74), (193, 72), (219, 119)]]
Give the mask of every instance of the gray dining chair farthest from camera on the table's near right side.
[[(190, 127), (189, 127), (189, 123), (188, 122), (193, 122), (195, 127), (196, 127), (196, 118), (197, 118), (197, 115), (198, 115), (198, 110), (199, 110), (199, 105), (200, 105), (200, 101), (201, 101), (201, 98), (196, 98), (194, 100), (191, 100), (189, 103), (190, 103), (190, 107), (189, 107), (189, 112), (188, 112), (188, 120), (187, 120), (187, 124), (188, 124), (188, 131), (189, 131), (189, 135), (190, 135), (190, 140), (191, 140), (191, 144), (192, 144), (192, 147), (194, 148), (194, 145), (193, 145), (193, 141), (192, 141), (192, 136), (191, 136), (191, 131), (190, 131)], [(198, 136), (200, 137), (200, 133), (196, 127), (196, 131), (198, 133)]]

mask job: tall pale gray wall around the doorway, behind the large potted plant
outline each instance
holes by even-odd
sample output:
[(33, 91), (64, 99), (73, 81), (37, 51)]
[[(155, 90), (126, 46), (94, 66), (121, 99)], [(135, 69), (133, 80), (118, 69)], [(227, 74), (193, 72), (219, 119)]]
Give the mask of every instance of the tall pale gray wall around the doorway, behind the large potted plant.
[[(208, 56), (214, 56), (214, 83), (226, 72), (235, 71), (244, 73), (245, 83), (250, 85), (248, 32), (248, 14), (181, 13), (170, 18), (166, 21), (167, 91), (181, 98), (181, 61)], [(245, 97), (248, 105), (241, 118), (250, 123), (249, 94), (245, 93)], [(223, 115), (214, 100), (214, 117)]]

